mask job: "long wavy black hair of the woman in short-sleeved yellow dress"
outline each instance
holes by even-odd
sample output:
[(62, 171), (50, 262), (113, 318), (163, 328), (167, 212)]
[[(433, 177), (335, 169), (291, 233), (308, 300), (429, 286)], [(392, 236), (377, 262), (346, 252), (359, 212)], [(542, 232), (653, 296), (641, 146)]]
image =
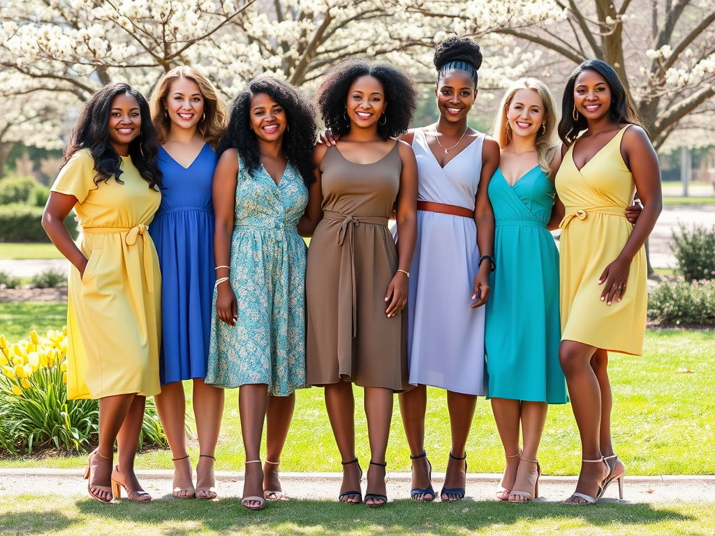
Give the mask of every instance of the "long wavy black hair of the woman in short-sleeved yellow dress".
[(94, 159), (94, 169), (97, 175), (94, 184), (107, 182), (110, 177), (119, 184), (124, 184), (119, 176), (122, 169), (122, 159), (109, 142), (109, 112), (112, 111), (112, 101), (120, 94), (127, 94), (137, 99), (139, 113), (142, 117), (142, 129), (139, 135), (129, 143), (129, 156), (132, 164), (137, 167), (142, 179), (149, 183), (149, 188), (162, 188), (162, 172), (159, 170), (159, 144), (157, 131), (152, 124), (152, 114), (149, 103), (144, 95), (129, 84), (114, 82), (97, 91), (82, 107), (77, 117), (77, 125), (72, 129), (72, 137), (64, 151), (64, 163), (80, 149), (89, 149)]

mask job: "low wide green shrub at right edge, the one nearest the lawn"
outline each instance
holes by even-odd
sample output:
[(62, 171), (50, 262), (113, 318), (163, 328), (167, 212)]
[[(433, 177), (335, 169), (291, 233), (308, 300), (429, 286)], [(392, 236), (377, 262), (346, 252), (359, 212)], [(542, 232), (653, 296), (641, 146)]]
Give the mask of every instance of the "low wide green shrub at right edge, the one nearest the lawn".
[(648, 317), (669, 324), (715, 325), (715, 279), (662, 282), (649, 294)]

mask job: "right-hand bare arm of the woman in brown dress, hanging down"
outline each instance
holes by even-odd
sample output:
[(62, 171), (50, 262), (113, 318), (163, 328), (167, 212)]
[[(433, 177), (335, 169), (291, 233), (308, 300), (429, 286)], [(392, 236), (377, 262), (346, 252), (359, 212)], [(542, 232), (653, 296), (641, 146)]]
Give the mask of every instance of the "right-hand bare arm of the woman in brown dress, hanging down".
[(388, 302), (386, 310), (388, 317), (400, 312), (407, 304), (408, 275), (412, 255), (415, 252), (417, 241), (417, 160), (415, 153), (405, 142), (399, 142), (400, 159), (402, 159), (402, 172), (400, 173), (400, 191), (397, 197), (397, 210), (395, 220), (398, 225), (398, 270), (385, 296)]

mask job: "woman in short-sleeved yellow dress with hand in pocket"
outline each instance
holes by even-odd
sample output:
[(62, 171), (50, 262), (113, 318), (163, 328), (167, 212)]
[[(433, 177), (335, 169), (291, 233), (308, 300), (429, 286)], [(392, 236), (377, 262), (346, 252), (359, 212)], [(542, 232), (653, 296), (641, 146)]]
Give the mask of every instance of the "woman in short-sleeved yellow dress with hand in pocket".
[[(72, 267), (67, 300), (70, 399), (99, 399), (99, 447), (89, 455), (89, 495), (151, 500), (134, 475), (146, 397), (160, 392), (161, 274), (149, 222), (162, 186), (144, 96), (127, 84), (97, 91), (79, 114), (42, 224)], [(64, 227), (70, 210), (77, 243)], [(117, 465), (113, 466), (117, 440)], [(111, 484), (111, 488), (110, 488)]]

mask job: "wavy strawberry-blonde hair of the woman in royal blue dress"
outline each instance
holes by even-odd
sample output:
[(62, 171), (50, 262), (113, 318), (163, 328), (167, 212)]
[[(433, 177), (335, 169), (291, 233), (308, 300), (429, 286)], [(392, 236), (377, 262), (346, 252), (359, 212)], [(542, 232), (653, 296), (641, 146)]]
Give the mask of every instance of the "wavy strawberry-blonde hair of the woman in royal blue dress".
[(206, 76), (188, 65), (174, 67), (167, 74), (164, 74), (157, 82), (154, 91), (152, 91), (149, 105), (152, 109), (152, 122), (154, 123), (154, 128), (157, 129), (157, 142), (163, 144), (167, 140), (172, 121), (167, 115), (167, 107), (164, 101), (167, 99), (174, 80), (179, 78), (191, 80), (199, 86), (204, 97), (204, 114), (206, 114), (206, 117), (199, 121), (197, 130), (204, 141), (209, 142), (216, 149), (219, 139), (226, 128), (226, 106), (214, 84)]

